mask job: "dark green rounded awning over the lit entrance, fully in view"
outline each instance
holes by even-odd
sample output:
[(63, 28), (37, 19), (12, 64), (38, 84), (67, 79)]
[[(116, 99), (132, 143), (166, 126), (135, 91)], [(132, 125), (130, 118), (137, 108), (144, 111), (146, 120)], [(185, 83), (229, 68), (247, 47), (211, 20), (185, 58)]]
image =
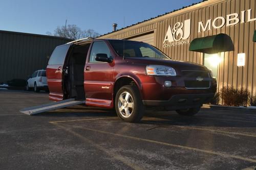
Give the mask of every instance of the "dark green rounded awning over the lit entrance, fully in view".
[(234, 51), (234, 45), (227, 34), (218, 34), (191, 41), (189, 51), (206, 54)]

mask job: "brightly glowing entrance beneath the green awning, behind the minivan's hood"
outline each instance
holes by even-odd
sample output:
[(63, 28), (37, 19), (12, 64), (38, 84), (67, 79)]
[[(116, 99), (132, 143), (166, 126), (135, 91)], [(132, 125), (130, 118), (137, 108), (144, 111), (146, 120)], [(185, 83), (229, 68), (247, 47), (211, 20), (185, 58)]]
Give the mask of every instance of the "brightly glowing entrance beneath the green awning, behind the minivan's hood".
[(204, 66), (212, 71), (215, 78), (218, 78), (218, 67), (220, 57), (218, 54), (204, 54)]

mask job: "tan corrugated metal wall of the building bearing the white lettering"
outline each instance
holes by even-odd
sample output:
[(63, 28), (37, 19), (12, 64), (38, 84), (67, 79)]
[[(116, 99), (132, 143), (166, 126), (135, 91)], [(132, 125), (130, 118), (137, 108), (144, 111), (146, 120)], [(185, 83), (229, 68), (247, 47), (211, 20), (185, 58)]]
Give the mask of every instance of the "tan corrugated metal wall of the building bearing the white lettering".
[[(252, 94), (256, 94), (256, 69), (254, 68), (256, 67), (256, 43), (252, 41), (253, 32), (256, 29), (256, 21), (238, 23), (237, 25), (229, 27), (224, 26), (221, 29), (211, 29), (201, 33), (198, 33), (197, 30), (199, 21), (205, 23), (208, 19), (214, 19), (218, 16), (226, 18), (227, 14), (232, 13), (241, 15), (241, 11), (248, 9), (252, 9), (252, 18), (256, 17), (255, 0), (210, 0), (99, 38), (127, 38), (135, 36), (135, 34), (138, 36), (139, 34), (144, 34), (148, 31), (155, 31), (156, 47), (162, 50), (165, 54), (171, 56), (175, 60), (203, 64), (203, 54), (190, 52), (188, 50), (189, 44), (175, 45), (167, 48), (163, 47), (163, 40), (168, 26), (174, 26), (178, 21), (182, 22), (186, 19), (191, 19), (190, 42), (195, 38), (220, 33), (229, 35), (233, 41), (234, 51), (221, 54), (221, 63), (219, 65), (218, 74), (218, 90), (229, 86), (235, 89), (248, 89)], [(145, 31), (136, 31), (137, 28), (146, 28), (146, 26), (149, 25), (153, 27), (147, 28)], [(218, 25), (220, 25), (220, 20), (218, 21)], [(134, 31), (135, 34), (133, 34)], [(124, 32), (128, 32), (129, 34), (122, 35)], [(140, 39), (138, 40), (140, 41)], [(237, 66), (238, 53), (246, 54), (246, 63), (244, 67)]]

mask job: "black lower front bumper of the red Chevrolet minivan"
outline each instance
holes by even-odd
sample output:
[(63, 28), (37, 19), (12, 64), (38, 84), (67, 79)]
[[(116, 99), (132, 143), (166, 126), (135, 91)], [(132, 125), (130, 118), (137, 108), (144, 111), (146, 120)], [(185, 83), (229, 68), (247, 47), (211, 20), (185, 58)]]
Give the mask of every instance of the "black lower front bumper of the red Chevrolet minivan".
[(179, 110), (201, 107), (214, 98), (215, 93), (207, 94), (175, 94), (169, 100), (143, 100), (145, 106), (164, 106), (167, 110)]

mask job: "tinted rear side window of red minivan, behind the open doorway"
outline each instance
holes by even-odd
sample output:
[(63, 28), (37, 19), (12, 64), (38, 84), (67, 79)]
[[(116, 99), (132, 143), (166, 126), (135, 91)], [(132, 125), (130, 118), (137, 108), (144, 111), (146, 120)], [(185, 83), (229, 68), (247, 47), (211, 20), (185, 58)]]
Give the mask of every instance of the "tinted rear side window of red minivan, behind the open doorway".
[(48, 65), (62, 65), (65, 62), (66, 55), (68, 53), (70, 44), (57, 46), (48, 62)]

